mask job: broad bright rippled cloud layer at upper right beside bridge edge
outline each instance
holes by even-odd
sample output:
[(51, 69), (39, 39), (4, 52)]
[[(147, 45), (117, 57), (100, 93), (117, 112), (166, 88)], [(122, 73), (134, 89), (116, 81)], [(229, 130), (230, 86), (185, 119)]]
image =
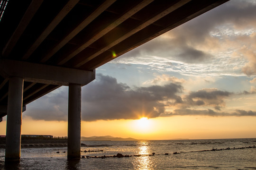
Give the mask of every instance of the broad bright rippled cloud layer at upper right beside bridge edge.
[(255, 8), (230, 0), (111, 62), (190, 76), (255, 75)]

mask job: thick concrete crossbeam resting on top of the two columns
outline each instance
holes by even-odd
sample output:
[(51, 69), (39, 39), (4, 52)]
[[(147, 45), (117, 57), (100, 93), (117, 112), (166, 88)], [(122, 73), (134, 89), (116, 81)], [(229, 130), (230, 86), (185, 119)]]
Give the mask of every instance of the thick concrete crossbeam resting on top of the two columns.
[(86, 71), (9, 59), (0, 60), (0, 74), (5, 78), (18, 76), (23, 77), (24, 81), (51, 85), (83, 86), (95, 79), (95, 70)]

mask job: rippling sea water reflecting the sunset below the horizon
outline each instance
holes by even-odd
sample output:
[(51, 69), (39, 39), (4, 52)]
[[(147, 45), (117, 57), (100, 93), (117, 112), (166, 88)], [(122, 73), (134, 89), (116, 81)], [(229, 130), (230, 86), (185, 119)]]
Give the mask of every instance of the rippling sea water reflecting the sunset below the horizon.
[[(82, 143), (88, 146), (81, 151), (98, 152), (81, 152), (85, 158), (68, 161), (66, 147), (22, 148), (19, 163), (5, 164), (1, 148), (0, 170), (256, 170), (256, 138)], [(92, 158), (117, 153), (132, 156)]]

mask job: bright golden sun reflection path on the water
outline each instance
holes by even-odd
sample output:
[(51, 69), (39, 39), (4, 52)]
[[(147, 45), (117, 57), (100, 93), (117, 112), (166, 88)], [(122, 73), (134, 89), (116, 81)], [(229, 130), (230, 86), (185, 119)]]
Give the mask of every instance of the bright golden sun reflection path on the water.
[(139, 141), (138, 143), (138, 154), (141, 156), (137, 157), (137, 168), (138, 170), (154, 170), (153, 163), (149, 158), (150, 146), (147, 141)]

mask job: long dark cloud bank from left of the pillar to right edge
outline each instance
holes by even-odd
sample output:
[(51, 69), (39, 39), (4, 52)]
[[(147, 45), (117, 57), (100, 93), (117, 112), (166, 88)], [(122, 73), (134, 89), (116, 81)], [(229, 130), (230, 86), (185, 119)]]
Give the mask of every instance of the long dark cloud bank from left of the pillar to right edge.
[[(97, 74), (82, 88), (82, 120), (139, 119), (176, 115), (256, 116), (255, 111), (220, 112), (234, 93), (205, 88), (184, 94), (183, 79), (163, 77), (165, 85), (131, 88), (111, 76)], [(155, 80), (161, 81), (158, 77)], [(156, 81), (157, 83), (157, 81)], [(171, 110), (173, 111), (170, 111)], [(202, 108), (208, 108), (203, 109)], [(27, 106), (24, 117), (67, 120), (68, 87), (61, 87)], [(215, 110), (215, 111), (214, 111)]]

